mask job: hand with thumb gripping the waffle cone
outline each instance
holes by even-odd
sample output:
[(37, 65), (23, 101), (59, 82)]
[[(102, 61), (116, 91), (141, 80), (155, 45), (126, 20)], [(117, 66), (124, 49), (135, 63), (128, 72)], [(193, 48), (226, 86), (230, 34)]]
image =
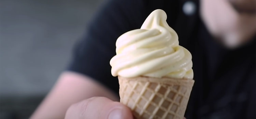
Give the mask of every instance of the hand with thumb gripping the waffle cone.
[(65, 119), (133, 119), (130, 109), (105, 97), (92, 97), (71, 105)]

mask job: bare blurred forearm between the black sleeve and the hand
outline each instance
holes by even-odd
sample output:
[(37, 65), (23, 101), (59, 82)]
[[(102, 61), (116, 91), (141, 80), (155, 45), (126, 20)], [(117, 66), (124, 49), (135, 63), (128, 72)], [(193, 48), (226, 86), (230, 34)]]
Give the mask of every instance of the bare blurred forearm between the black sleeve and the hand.
[(113, 92), (91, 78), (74, 72), (63, 72), (31, 119), (63, 119), (71, 104), (95, 96), (118, 101)]

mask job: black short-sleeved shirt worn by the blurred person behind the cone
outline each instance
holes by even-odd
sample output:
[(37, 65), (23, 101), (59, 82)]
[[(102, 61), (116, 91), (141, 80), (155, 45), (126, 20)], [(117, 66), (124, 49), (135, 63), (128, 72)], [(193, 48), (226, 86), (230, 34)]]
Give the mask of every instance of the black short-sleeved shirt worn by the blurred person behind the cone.
[(180, 45), (193, 56), (195, 84), (187, 119), (255, 119), (255, 37), (237, 49), (226, 49), (205, 28), (198, 11), (184, 14), (186, 0), (111, 0), (90, 22), (75, 48), (68, 70), (87, 75), (118, 95), (118, 79), (111, 75), (110, 59), (115, 41), (123, 33), (139, 29), (146, 17), (160, 8), (167, 23), (179, 35)]

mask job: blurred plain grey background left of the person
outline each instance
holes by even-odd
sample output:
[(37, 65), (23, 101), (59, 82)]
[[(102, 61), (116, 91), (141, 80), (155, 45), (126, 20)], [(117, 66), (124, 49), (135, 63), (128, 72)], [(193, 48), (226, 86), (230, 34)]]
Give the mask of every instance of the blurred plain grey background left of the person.
[(1, 0), (1, 119), (27, 119), (103, 0)]

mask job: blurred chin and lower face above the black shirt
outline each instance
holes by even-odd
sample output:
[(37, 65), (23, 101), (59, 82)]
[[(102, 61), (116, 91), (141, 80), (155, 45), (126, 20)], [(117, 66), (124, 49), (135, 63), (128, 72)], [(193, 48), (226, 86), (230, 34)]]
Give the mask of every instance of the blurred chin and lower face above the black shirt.
[(200, 4), (205, 26), (227, 48), (238, 48), (255, 36), (255, 0), (201, 0)]

